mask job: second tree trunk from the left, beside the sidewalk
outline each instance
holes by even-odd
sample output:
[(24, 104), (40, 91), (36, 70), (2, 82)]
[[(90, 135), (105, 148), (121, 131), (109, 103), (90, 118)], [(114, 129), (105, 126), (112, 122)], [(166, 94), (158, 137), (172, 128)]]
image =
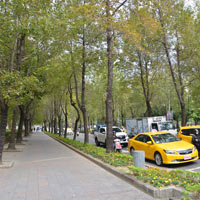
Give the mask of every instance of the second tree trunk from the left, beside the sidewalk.
[(11, 137), (8, 149), (15, 149), (17, 114), (18, 114), (18, 107), (15, 107), (13, 109), (12, 129), (11, 129)]

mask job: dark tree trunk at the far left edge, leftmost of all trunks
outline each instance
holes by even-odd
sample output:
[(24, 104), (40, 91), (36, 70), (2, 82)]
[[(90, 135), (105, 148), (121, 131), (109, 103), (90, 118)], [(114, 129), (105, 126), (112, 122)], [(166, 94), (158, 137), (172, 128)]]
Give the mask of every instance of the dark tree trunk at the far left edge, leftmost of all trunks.
[(1, 102), (1, 119), (0, 119), (0, 164), (2, 163), (3, 146), (5, 141), (6, 126), (8, 119), (8, 105)]

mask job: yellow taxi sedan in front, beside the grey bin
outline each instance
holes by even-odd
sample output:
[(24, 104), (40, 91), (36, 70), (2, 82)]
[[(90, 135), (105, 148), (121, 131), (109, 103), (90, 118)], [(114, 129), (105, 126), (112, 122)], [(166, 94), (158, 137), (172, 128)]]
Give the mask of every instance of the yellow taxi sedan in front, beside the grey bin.
[(128, 142), (129, 152), (145, 152), (145, 158), (162, 164), (178, 164), (197, 160), (198, 151), (193, 144), (182, 141), (168, 132), (139, 133)]

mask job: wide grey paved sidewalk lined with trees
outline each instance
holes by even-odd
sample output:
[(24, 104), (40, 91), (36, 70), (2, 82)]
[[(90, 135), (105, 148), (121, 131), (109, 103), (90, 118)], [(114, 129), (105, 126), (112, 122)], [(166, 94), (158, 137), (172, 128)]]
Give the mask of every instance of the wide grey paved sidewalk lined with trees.
[(153, 199), (43, 133), (3, 156), (15, 164), (0, 169), (0, 200)]

